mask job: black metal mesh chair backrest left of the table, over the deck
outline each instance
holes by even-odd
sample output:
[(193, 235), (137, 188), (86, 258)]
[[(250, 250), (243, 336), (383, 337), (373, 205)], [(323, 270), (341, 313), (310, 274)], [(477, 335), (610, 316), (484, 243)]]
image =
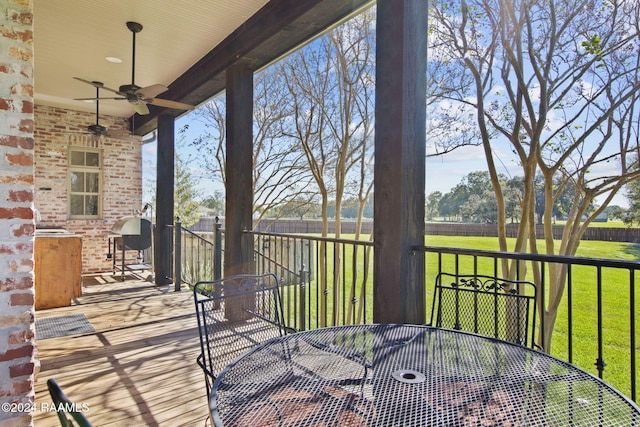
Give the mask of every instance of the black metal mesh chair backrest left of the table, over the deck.
[(241, 274), (193, 287), (207, 394), (233, 359), (270, 338), (292, 332), (284, 322), (278, 278)]

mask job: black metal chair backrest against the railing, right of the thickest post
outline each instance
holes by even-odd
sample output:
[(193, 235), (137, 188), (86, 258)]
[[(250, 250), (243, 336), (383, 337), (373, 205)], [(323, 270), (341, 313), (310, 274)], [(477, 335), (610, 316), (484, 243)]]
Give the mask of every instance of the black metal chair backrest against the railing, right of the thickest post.
[(537, 347), (536, 293), (531, 282), (439, 273), (431, 324)]

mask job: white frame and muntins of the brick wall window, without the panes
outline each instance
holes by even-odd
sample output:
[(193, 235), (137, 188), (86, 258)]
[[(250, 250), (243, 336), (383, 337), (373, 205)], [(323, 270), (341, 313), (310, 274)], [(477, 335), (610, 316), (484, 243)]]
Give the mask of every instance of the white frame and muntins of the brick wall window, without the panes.
[[(73, 164), (72, 158), (75, 153), (82, 153), (83, 155), (83, 164)], [(98, 155), (98, 165), (87, 165), (87, 153), (97, 154)], [(68, 165), (68, 173), (67, 173), (67, 212), (69, 219), (101, 219), (102, 218), (102, 158), (103, 153), (99, 148), (89, 148), (89, 147), (69, 147), (67, 165)], [(73, 191), (72, 179), (74, 174), (80, 173), (86, 177), (86, 173), (97, 173), (98, 174), (98, 190), (97, 191)], [(86, 182), (85, 182), (86, 185)], [(96, 214), (87, 214), (87, 201), (83, 199), (83, 213), (82, 214), (74, 214), (72, 213), (72, 199), (73, 196), (97, 196), (97, 213)]]

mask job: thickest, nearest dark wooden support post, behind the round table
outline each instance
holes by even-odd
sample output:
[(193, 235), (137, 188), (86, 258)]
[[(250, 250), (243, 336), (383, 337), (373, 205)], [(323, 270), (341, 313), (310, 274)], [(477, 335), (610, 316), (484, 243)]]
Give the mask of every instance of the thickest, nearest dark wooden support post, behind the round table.
[(378, 0), (373, 320), (426, 320), (424, 256), (427, 1)]

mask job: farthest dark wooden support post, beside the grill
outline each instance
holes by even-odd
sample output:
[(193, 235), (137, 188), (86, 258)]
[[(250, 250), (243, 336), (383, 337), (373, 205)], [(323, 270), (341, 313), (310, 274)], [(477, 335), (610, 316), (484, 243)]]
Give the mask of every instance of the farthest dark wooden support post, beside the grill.
[(158, 116), (158, 153), (156, 175), (156, 229), (154, 266), (156, 285), (171, 283), (173, 263), (173, 175), (175, 157), (175, 122), (167, 115)]

